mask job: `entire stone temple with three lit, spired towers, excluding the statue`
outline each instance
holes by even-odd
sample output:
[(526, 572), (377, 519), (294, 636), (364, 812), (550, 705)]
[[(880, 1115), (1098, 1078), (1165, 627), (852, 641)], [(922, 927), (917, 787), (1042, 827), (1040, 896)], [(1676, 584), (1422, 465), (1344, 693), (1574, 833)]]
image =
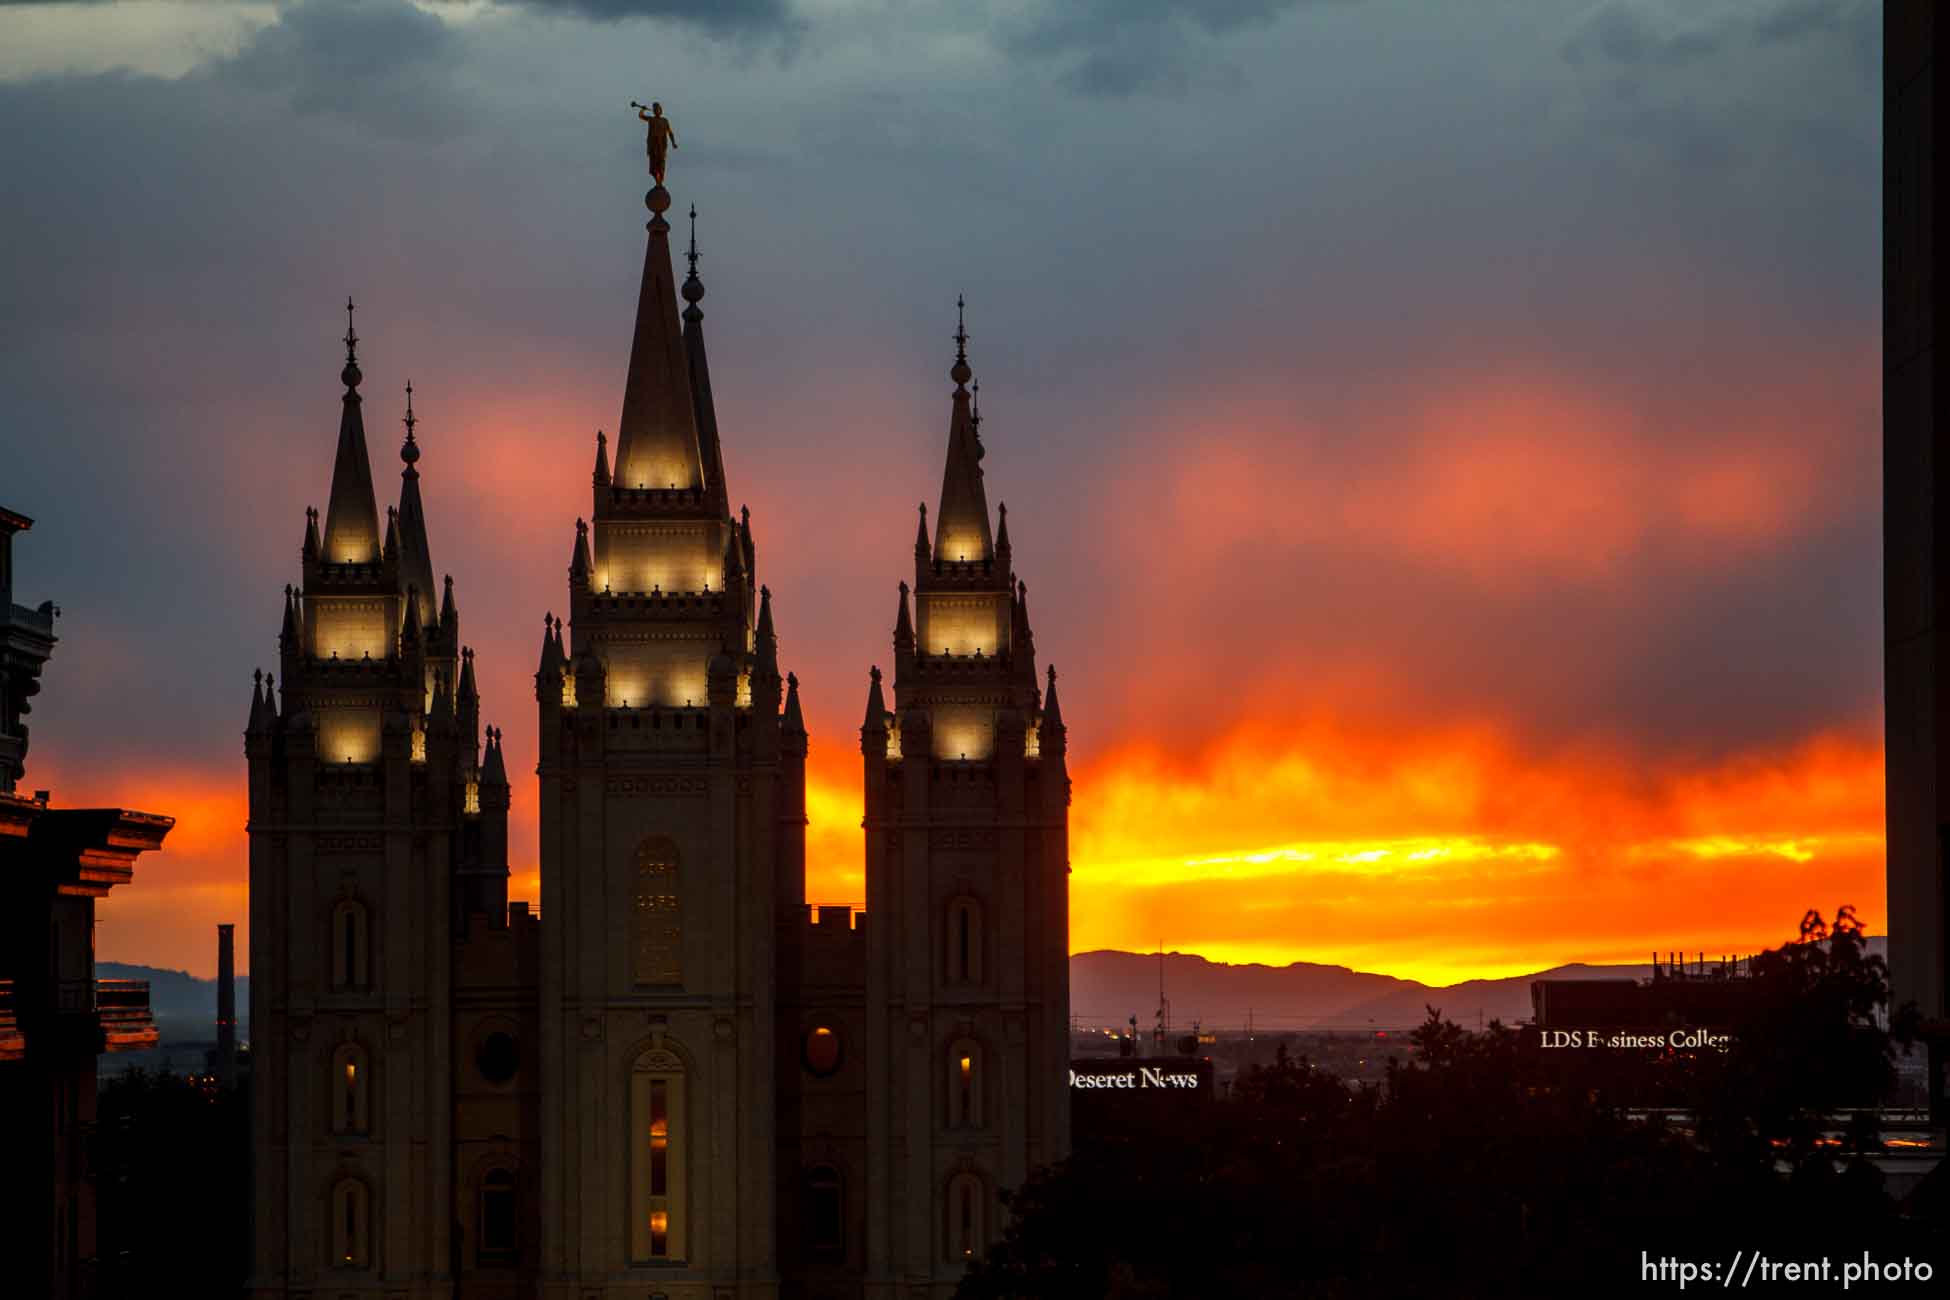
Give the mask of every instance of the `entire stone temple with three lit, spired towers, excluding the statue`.
[(645, 203), (622, 419), (534, 674), (538, 916), (507, 902), (411, 392), (382, 524), (347, 327), (246, 733), (257, 1296), (946, 1296), (998, 1191), (1069, 1148), (1065, 729), (965, 333), (860, 729), (868, 910), (809, 906), (800, 682), (731, 511), (696, 242), (679, 285)]

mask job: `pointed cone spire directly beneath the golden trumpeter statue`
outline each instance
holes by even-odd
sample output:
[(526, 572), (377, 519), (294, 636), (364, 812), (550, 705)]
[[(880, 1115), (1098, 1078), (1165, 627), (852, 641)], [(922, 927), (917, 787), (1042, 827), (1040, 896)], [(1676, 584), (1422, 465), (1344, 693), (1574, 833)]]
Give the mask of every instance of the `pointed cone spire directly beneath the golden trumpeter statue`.
[(649, 242), (644, 283), (636, 296), (636, 337), (630, 376), (616, 425), (616, 487), (704, 487), (696, 405), (690, 394), (690, 355), (677, 322), (677, 277), (671, 273), (671, 224), (663, 214), (671, 191), (644, 195)]

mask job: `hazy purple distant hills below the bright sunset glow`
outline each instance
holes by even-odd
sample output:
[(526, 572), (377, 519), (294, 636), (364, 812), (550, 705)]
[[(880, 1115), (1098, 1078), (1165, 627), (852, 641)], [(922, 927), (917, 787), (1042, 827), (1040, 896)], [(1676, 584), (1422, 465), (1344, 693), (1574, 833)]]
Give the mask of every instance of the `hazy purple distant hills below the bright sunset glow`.
[[(1888, 955), (1890, 941), (1870, 936), (1868, 951)], [(1427, 1017), (1429, 1006), (1459, 1025), (1531, 1017), (1531, 982), (1652, 976), (1650, 965), (1595, 967), (1574, 963), (1496, 980), (1431, 986), (1392, 975), (1295, 961), (1287, 967), (1228, 965), (1197, 953), (1164, 955), (1164, 996), (1172, 1025), (1209, 1029), (1252, 1023), (1264, 1029), (1406, 1029)], [(1158, 1010), (1158, 955), (1098, 949), (1071, 957), (1071, 1012), (1082, 1025), (1121, 1025), (1135, 1013), (1149, 1029)]]

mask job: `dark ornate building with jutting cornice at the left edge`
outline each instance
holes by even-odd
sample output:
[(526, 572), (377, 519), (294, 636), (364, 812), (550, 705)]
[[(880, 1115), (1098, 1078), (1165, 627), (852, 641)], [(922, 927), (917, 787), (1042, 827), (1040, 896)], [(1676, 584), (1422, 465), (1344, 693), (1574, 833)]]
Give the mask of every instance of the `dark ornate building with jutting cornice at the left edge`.
[(27, 760), (27, 700), (55, 653), (55, 604), (14, 604), (14, 536), (33, 526), (0, 509), (0, 1113), (10, 1117), (0, 1197), (8, 1288), (94, 1294), (96, 1056), (156, 1047), (144, 980), (96, 978), (96, 899), (135, 877), (170, 817), (57, 809), (16, 791)]

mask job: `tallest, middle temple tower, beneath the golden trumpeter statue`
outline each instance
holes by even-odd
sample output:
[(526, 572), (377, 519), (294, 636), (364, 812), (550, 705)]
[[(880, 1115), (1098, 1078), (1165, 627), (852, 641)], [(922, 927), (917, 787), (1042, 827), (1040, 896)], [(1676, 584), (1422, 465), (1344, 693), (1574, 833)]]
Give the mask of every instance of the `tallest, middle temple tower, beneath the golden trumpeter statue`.
[[(657, 185), (614, 464), (544, 620), (542, 1292), (776, 1292), (774, 914), (805, 766), (751, 518), (729, 513), (692, 228)], [(603, 1294), (624, 1294), (603, 1290)]]

